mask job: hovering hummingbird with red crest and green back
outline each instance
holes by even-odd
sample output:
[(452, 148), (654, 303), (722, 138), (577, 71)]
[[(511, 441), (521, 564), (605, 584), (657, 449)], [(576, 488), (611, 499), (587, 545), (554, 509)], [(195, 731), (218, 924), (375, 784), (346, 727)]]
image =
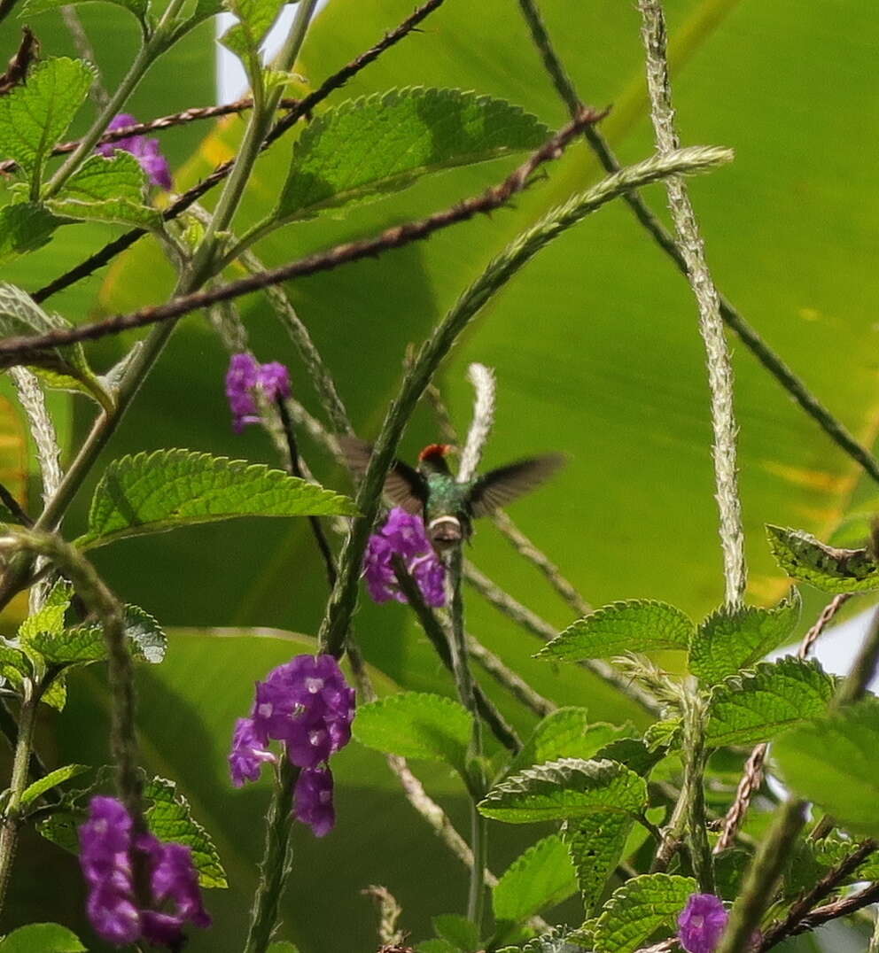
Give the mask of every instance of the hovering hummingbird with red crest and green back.
[[(340, 438), (339, 444), (348, 466), (363, 476), (372, 455), (370, 444), (353, 436)], [(384, 481), (385, 496), (424, 520), (438, 552), (469, 539), (475, 517), (487, 516), (533, 490), (564, 463), (562, 454), (532, 456), (459, 483), (446, 462), (453, 449), (448, 443), (430, 444), (419, 454), (418, 469), (395, 460)]]

